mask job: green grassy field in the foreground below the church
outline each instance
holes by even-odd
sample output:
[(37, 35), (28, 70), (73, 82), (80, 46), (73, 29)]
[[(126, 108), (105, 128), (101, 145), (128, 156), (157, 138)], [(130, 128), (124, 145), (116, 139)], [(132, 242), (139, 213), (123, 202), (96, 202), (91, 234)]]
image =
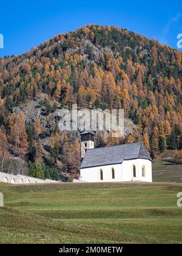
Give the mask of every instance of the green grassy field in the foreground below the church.
[(1, 243), (182, 243), (174, 183), (1, 183)]

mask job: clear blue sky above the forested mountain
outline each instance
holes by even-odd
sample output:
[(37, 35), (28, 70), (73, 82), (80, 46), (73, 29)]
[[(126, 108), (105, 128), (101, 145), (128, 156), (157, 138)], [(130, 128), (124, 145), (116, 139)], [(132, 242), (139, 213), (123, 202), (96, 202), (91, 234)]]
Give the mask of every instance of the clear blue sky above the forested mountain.
[[(172, 4), (174, 3), (174, 4)], [(136, 31), (177, 48), (182, 33), (181, 1), (1, 1), (0, 56), (22, 54), (53, 35), (86, 24)]]

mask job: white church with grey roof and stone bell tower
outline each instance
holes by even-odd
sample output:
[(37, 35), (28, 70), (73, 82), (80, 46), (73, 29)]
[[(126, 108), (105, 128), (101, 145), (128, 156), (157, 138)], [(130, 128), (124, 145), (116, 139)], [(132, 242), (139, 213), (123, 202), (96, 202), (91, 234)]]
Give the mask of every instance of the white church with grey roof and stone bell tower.
[(152, 182), (152, 159), (143, 143), (94, 148), (94, 134), (81, 134), (79, 180), (82, 182)]

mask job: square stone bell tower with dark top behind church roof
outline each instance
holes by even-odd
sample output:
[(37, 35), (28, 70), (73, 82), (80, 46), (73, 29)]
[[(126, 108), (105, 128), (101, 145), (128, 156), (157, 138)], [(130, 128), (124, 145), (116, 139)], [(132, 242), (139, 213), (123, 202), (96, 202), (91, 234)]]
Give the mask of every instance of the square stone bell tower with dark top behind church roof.
[(94, 133), (81, 133), (81, 158), (84, 158), (87, 149), (94, 149)]

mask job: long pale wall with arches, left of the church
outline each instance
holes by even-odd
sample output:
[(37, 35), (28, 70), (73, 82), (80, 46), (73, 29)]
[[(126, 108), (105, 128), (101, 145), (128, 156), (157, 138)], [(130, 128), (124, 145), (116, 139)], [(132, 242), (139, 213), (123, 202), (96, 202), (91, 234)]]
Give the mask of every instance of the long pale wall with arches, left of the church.
[(24, 175), (12, 175), (7, 174), (4, 172), (0, 172), (0, 182), (4, 183), (12, 183), (12, 184), (32, 184), (32, 183), (55, 183), (56, 180), (49, 180), (49, 179), (37, 179), (29, 176)]

